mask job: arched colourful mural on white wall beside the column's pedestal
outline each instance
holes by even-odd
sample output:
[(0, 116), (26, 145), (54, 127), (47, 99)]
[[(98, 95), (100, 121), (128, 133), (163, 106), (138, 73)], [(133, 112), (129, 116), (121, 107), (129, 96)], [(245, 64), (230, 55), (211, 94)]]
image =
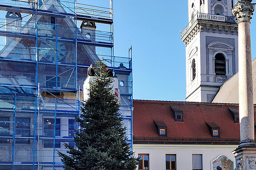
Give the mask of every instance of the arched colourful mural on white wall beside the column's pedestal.
[(234, 170), (234, 162), (225, 155), (219, 155), (211, 161), (211, 170)]

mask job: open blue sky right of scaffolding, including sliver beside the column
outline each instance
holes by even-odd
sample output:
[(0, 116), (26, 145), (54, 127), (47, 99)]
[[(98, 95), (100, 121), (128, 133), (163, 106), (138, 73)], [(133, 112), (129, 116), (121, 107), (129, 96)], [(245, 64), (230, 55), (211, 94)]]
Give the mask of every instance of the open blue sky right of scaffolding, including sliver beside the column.
[[(114, 0), (114, 54), (133, 48), (133, 97), (180, 100), (186, 97), (187, 0)], [(256, 14), (252, 16), (252, 58), (256, 57)]]

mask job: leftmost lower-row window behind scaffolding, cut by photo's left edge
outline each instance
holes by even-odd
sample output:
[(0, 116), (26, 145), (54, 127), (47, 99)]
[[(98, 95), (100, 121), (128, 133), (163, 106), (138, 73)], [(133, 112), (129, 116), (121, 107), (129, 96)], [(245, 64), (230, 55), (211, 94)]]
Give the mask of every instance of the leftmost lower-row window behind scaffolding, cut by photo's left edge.
[[(10, 118), (0, 117), (0, 135), (10, 135)], [(0, 143), (9, 143), (10, 139), (0, 138)]]

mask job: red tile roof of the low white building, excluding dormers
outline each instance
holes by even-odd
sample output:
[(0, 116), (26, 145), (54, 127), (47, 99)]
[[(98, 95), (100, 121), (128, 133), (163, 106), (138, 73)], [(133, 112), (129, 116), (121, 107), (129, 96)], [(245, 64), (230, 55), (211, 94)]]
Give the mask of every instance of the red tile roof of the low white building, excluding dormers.
[[(238, 110), (238, 104), (133, 100), (133, 105), (134, 143), (240, 142), (239, 124), (234, 123), (229, 110)], [(177, 106), (183, 111), (183, 122), (175, 122), (170, 106)], [(158, 136), (154, 120), (161, 120), (167, 125), (167, 137)], [(219, 127), (220, 138), (211, 136), (207, 123)]]

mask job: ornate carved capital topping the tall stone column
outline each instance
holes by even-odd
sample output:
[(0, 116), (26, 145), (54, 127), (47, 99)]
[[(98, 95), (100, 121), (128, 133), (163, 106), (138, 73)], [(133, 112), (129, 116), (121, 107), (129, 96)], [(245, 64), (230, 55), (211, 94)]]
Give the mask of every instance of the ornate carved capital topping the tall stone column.
[(250, 21), (255, 9), (255, 3), (252, 0), (238, 0), (235, 7), (232, 9), (233, 15), (237, 21)]

